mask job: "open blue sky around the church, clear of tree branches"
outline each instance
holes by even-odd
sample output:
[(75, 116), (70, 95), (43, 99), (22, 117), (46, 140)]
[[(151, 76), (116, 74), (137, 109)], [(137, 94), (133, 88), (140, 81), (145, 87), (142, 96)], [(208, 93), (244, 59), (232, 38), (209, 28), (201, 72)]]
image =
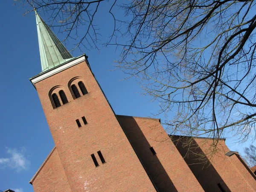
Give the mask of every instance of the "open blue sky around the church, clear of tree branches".
[[(24, 10), (12, 0), (0, 1), (0, 7), (4, 8), (0, 12), (0, 190), (33, 192), (28, 182), (54, 146), (37, 92), (29, 81), (41, 72), (35, 15), (23, 16)], [(110, 17), (99, 24), (102, 28), (113, 25)], [(60, 34), (57, 36), (61, 39)], [(124, 73), (110, 71), (118, 57), (118, 50), (115, 51), (115, 47), (100, 51), (84, 49), (114, 111), (131, 116), (156, 113), (157, 103), (140, 94), (143, 90), (135, 79), (120, 81)], [(73, 53), (78, 55), (81, 52)], [(243, 145), (234, 142), (226, 140), (230, 150), (239, 152), (250, 144), (250, 141)]]

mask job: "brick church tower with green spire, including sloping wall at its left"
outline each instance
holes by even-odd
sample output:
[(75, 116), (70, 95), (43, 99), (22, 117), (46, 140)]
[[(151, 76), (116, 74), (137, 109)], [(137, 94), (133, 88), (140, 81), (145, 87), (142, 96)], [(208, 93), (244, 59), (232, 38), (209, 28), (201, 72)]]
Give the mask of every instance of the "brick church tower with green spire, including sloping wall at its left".
[(35, 192), (156, 191), (87, 56), (73, 57), (35, 15), (42, 72), (30, 81), (55, 143), (30, 181)]

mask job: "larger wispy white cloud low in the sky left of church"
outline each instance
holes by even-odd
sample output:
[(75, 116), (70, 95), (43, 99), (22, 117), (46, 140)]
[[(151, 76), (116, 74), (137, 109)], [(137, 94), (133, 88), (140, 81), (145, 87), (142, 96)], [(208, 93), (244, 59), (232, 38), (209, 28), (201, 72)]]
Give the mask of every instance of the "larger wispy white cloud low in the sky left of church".
[(30, 162), (25, 157), (26, 148), (21, 148), (19, 151), (15, 148), (6, 147), (6, 153), (10, 156), (7, 158), (0, 158), (1, 167), (9, 167), (16, 172), (28, 170)]

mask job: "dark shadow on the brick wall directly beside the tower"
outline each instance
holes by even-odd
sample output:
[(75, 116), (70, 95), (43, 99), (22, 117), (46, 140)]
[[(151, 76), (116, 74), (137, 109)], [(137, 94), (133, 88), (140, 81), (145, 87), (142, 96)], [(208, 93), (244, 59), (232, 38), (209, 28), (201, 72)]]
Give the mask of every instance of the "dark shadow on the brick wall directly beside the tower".
[[(163, 168), (157, 154), (153, 155), (143, 132), (134, 118), (118, 118), (124, 128), (129, 141), (134, 146), (137, 155), (140, 157), (146, 172), (153, 180), (159, 192), (177, 192), (172, 180)], [(157, 152), (157, 151), (156, 151)]]

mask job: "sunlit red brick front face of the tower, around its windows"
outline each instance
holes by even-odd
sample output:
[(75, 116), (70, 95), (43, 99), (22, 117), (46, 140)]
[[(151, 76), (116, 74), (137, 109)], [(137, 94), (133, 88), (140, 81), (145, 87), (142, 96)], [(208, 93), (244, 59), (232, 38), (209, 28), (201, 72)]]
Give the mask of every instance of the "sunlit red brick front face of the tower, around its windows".
[[(82, 79), (89, 92), (78, 99), (73, 99), (68, 87), (74, 77)], [(69, 101), (56, 109), (49, 99), (54, 86), (62, 87)], [(85, 62), (39, 81), (35, 87), (72, 192), (155, 191)], [(83, 125), (82, 116), (87, 125)], [(99, 159), (99, 150), (105, 164)], [(99, 167), (95, 167), (91, 154), (95, 154)]]

